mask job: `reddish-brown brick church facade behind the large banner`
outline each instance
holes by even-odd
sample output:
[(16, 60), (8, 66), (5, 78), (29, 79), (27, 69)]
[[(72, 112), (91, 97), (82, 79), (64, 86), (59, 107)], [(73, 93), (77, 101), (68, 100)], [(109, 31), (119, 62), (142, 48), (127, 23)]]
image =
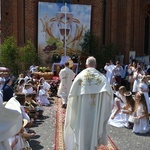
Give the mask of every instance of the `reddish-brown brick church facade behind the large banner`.
[(114, 43), (129, 61), (129, 52), (150, 55), (150, 0), (1, 0), (1, 40), (14, 36), (18, 46), (31, 39), (37, 47), (38, 3), (91, 5), (91, 31), (102, 45)]

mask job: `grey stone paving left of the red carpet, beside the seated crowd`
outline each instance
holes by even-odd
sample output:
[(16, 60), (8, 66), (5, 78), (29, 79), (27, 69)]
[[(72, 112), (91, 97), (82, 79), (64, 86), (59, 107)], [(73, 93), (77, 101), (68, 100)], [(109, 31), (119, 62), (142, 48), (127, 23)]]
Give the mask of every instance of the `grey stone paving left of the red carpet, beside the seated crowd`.
[(54, 150), (55, 141), (55, 105), (44, 108), (43, 117), (35, 121), (31, 130), (36, 135), (30, 140), (32, 150)]

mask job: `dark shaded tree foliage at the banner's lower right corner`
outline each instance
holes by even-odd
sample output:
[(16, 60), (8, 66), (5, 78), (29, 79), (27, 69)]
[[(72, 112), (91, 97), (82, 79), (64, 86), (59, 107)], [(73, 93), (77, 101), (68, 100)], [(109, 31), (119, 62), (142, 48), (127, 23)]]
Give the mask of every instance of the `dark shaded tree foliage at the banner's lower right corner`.
[(98, 67), (104, 66), (109, 60), (115, 60), (118, 55), (118, 48), (115, 44), (100, 45), (100, 38), (92, 32), (87, 31), (83, 36), (83, 42), (80, 44), (82, 52), (94, 56)]

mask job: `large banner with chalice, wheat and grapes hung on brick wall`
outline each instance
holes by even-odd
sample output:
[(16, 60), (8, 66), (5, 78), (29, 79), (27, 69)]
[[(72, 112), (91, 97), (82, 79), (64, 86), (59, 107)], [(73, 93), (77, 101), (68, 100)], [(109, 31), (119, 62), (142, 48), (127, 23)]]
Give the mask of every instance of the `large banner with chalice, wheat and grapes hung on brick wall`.
[(91, 5), (38, 3), (38, 53), (48, 63), (53, 54), (81, 52), (80, 43), (91, 26)]

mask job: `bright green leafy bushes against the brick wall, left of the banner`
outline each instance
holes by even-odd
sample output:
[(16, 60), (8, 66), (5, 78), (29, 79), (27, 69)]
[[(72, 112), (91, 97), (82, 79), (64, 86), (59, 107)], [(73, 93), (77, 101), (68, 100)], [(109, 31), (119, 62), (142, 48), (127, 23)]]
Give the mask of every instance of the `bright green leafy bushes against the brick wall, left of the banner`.
[(26, 71), (30, 65), (37, 63), (38, 55), (31, 40), (24, 47), (17, 47), (14, 37), (7, 37), (1, 44), (0, 62), (2, 66), (10, 69), (11, 73), (18, 75)]

